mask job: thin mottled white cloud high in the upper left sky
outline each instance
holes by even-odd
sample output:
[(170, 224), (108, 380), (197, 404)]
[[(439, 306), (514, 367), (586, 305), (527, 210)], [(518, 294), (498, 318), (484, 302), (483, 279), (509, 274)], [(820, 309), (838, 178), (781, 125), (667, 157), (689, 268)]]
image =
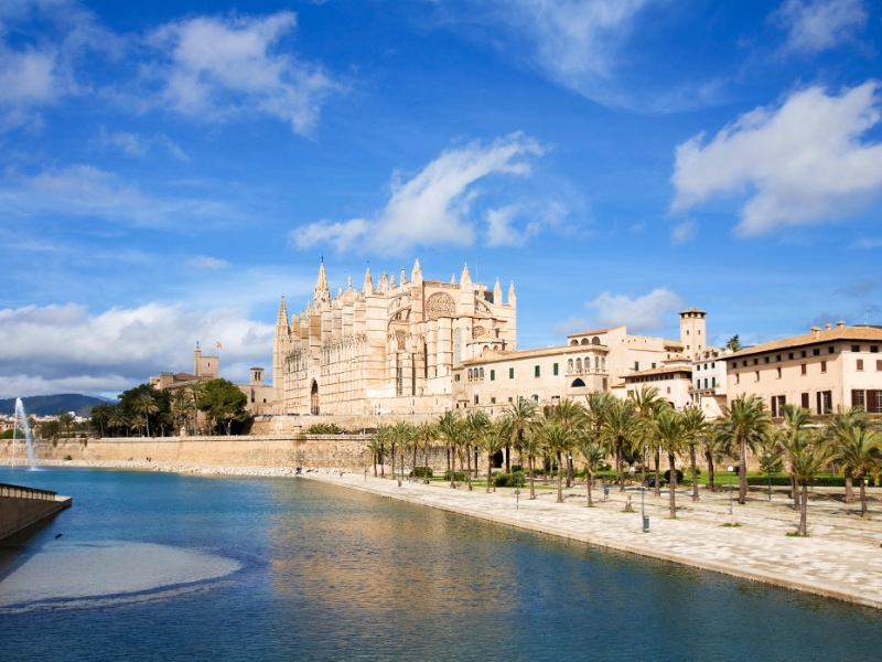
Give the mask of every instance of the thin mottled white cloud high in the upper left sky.
[(147, 71), (162, 83), (162, 103), (182, 115), (227, 120), (257, 113), (306, 134), (322, 100), (341, 87), (321, 67), (277, 52), (295, 24), (297, 14), (288, 11), (168, 23), (149, 38), (164, 62)]

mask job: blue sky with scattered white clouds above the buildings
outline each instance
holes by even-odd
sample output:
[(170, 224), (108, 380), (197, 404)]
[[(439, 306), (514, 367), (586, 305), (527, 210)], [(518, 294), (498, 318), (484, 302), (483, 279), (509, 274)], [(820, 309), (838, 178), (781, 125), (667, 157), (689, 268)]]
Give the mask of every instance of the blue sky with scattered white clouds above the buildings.
[(0, 2), (0, 397), (271, 365), (370, 265), (515, 281), (518, 344), (882, 323), (863, 0)]

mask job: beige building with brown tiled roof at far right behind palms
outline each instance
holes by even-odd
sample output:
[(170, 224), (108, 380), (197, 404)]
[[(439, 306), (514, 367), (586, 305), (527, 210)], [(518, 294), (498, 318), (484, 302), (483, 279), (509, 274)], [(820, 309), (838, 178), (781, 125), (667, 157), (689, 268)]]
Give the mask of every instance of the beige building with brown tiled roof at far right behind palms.
[(805, 335), (775, 340), (725, 357), (728, 395), (755, 394), (772, 416), (794, 404), (822, 415), (837, 407), (882, 413), (882, 329), (813, 327)]

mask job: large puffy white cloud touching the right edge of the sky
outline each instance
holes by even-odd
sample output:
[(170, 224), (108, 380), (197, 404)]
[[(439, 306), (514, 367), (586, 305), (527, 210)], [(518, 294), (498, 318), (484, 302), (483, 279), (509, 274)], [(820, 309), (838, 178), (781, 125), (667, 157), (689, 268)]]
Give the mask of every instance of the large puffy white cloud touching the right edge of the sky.
[(742, 115), (708, 143), (702, 134), (679, 145), (671, 211), (746, 195), (738, 232), (757, 235), (865, 205), (882, 190), (882, 146), (861, 140), (880, 121), (879, 86), (868, 82), (839, 96), (810, 87)]

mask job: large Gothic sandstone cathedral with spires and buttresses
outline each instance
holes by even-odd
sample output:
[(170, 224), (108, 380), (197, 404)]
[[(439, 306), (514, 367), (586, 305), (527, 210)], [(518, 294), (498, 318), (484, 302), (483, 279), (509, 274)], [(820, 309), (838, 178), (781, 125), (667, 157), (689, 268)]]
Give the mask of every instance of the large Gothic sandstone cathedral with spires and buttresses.
[(419, 260), (384, 273), (367, 270), (361, 290), (332, 297), (324, 264), (312, 300), (299, 316), (279, 307), (273, 345), (277, 414), (410, 414), (453, 406), (453, 372), (486, 352), (516, 349), (514, 284), (503, 301), (473, 282), (466, 266), (449, 282), (426, 280)]

